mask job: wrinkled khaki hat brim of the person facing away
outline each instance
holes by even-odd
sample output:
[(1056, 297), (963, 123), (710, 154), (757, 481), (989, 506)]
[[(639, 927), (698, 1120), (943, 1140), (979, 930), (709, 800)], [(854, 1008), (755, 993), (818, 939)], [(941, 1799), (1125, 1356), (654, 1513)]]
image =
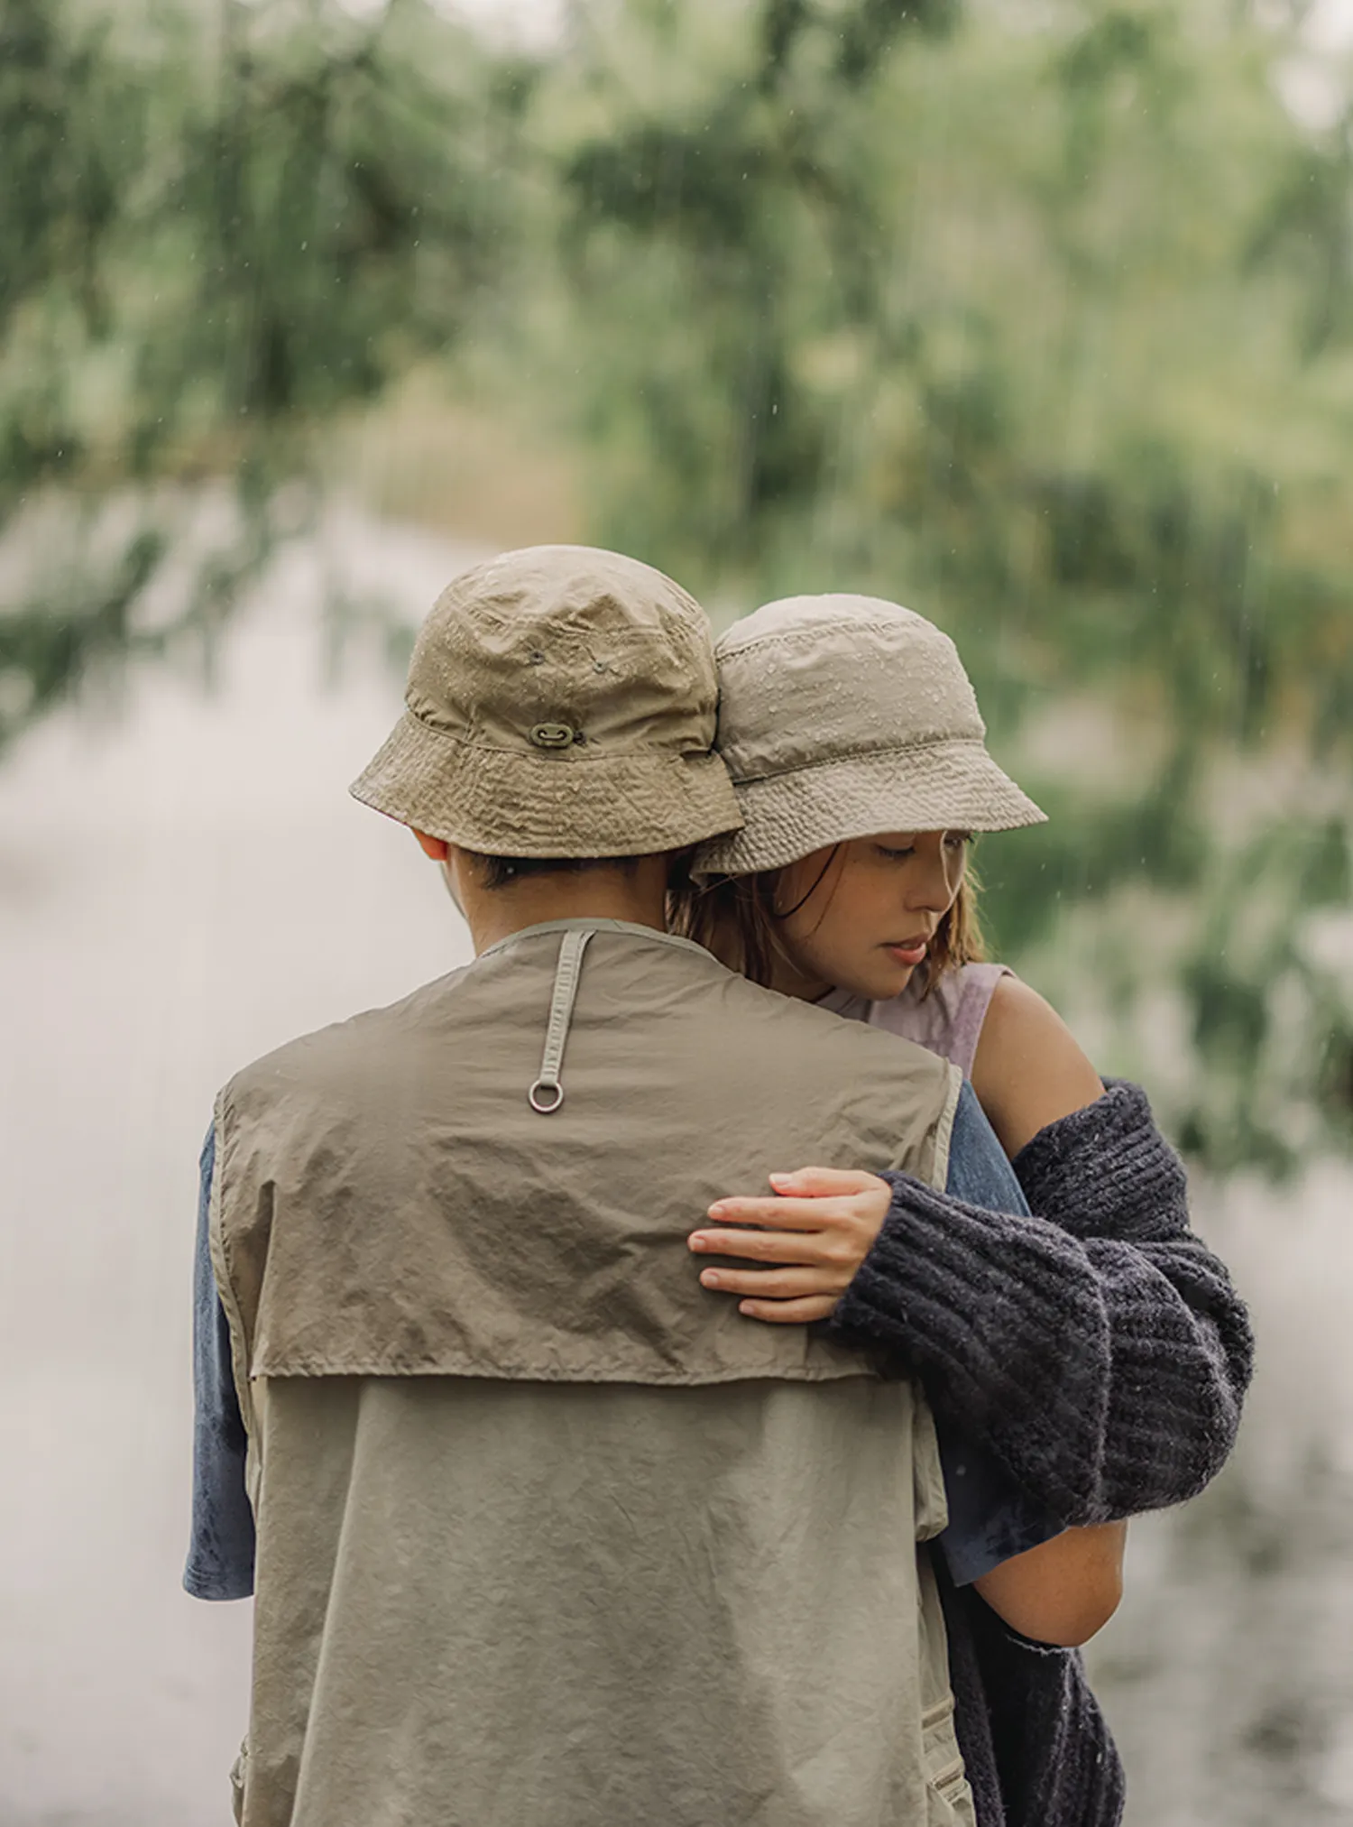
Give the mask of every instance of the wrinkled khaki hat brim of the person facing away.
[(646, 857), (741, 824), (718, 755), (524, 755), (462, 742), (411, 711), (349, 791), (491, 857)]

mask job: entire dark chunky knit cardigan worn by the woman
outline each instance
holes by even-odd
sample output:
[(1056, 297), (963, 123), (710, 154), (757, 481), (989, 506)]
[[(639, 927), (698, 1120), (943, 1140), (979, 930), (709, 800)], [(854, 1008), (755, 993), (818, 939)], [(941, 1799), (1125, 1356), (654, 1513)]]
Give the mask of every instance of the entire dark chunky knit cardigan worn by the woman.
[[(827, 1330), (915, 1374), (1068, 1527), (1194, 1496), (1236, 1438), (1253, 1337), (1145, 1093), (1110, 1083), (1013, 1167), (1033, 1217), (884, 1175), (887, 1219)], [(1123, 1772), (1079, 1653), (937, 1571), (979, 1827), (1116, 1827)]]

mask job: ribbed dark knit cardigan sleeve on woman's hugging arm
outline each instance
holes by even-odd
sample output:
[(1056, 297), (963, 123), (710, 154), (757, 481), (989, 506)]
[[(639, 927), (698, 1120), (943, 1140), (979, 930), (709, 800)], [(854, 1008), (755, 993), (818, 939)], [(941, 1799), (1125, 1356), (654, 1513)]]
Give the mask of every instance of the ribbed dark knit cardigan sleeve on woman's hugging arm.
[(1145, 1093), (1110, 1083), (1013, 1167), (1033, 1217), (884, 1175), (893, 1204), (829, 1330), (915, 1372), (1068, 1527), (1192, 1496), (1234, 1443), (1253, 1337)]

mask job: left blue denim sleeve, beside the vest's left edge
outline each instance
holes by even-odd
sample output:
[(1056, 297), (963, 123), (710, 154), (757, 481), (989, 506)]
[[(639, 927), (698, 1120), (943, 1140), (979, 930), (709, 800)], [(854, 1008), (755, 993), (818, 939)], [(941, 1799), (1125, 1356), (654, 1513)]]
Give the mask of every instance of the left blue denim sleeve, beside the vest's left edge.
[(245, 1421), (230, 1361), (230, 1325), (206, 1231), (214, 1173), (215, 1129), (208, 1129), (194, 1251), (192, 1538), (183, 1584), (194, 1599), (248, 1599), (254, 1591), (254, 1511), (245, 1491)]

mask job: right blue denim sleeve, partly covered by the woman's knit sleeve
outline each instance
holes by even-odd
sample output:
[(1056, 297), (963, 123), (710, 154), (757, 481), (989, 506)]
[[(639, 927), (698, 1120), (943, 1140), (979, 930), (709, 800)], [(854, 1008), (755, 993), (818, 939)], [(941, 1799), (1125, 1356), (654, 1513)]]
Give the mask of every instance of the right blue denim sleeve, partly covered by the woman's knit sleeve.
[[(988, 1211), (1028, 1215), (1019, 1180), (966, 1082), (953, 1118), (946, 1193)], [(939, 1540), (955, 1586), (971, 1586), (1012, 1555), (1063, 1533), (1063, 1524), (1012, 1484), (988, 1452), (951, 1429), (939, 1434), (949, 1500), (949, 1526)]]

